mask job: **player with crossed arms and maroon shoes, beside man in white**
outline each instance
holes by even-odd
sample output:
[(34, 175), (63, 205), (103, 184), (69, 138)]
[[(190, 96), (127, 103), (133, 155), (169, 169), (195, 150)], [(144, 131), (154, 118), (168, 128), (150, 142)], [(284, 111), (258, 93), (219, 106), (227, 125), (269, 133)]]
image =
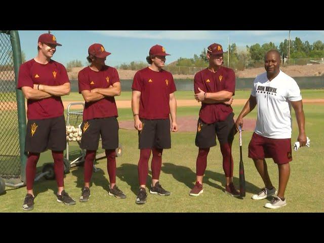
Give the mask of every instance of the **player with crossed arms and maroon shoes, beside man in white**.
[(239, 196), (233, 184), (232, 142), (236, 133), (231, 107), (235, 93), (235, 73), (223, 67), (223, 48), (212, 44), (207, 48), (209, 67), (194, 76), (195, 99), (201, 102), (195, 144), (199, 147), (196, 161), (196, 184), (191, 196), (203, 193), (203, 177), (207, 167), (207, 155), (216, 146), (216, 135), (223, 155), (226, 176), (225, 193)]

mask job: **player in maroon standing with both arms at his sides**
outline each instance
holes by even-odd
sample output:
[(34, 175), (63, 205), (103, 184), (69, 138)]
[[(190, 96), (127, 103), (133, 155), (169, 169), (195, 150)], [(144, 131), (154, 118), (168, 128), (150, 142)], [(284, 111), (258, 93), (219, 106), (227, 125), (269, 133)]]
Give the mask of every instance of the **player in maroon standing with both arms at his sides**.
[(152, 184), (150, 193), (170, 195), (159, 184), (162, 166), (163, 149), (171, 148), (170, 118), (172, 131), (178, 131), (176, 121), (177, 101), (174, 95), (176, 86), (170, 72), (162, 69), (165, 65), (166, 53), (164, 47), (153, 46), (146, 57), (149, 67), (136, 72), (133, 80), (132, 109), (134, 126), (138, 130), (140, 159), (138, 162), (138, 177), (140, 190), (136, 204), (146, 203), (146, 178), (148, 175), (148, 160), (153, 153), (151, 169)]

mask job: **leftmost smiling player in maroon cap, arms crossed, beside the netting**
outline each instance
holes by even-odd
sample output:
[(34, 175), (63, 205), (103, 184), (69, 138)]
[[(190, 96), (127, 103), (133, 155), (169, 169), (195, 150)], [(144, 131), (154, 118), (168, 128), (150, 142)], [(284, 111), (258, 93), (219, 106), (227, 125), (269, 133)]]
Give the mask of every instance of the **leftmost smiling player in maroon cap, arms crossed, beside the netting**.
[(38, 55), (23, 63), (19, 69), (17, 88), (27, 99), (27, 134), (25, 151), (27, 195), (23, 210), (32, 210), (34, 205), (33, 182), (36, 164), (41, 152), (52, 150), (54, 172), (58, 186), (57, 201), (74, 205), (75, 201), (64, 190), (63, 151), (66, 148), (64, 107), (61, 96), (70, 92), (70, 82), (65, 67), (54, 60), (56, 42), (53, 34), (38, 38)]

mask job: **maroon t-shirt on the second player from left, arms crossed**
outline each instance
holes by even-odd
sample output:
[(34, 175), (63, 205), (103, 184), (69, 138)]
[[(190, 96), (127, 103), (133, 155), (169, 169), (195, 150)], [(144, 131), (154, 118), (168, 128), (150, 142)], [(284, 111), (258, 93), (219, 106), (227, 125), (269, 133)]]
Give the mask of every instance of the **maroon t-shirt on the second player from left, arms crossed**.
[[(116, 68), (104, 66), (100, 71), (94, 71), (89, 66), (78, 73), (79, 93), (84, 90), (95, 88), (107, 89), (114, 83), (119, 82)], [(118, 117), (115, 98), (106, 96), (105, 98), (93, 102), (86, 102), (83, 111), (83, 119)]]

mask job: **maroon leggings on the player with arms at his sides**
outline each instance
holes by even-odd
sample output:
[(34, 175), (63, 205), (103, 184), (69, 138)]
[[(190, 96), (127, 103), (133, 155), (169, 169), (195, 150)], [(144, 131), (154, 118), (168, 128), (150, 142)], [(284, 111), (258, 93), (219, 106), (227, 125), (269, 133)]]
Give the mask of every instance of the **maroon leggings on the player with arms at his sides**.
[(138, 179), (140, 185), (146, 184), (146, 179), (148, 175), (148, 160), (151, 156), (151, 151), (153, 153), (151, 170), (152, 170), (152, 179), (158, 180), (162, 167), (162, 153), (163, 149), (157, 148), (145, 148), (141, 149), (140, 160), (138, 161)]

